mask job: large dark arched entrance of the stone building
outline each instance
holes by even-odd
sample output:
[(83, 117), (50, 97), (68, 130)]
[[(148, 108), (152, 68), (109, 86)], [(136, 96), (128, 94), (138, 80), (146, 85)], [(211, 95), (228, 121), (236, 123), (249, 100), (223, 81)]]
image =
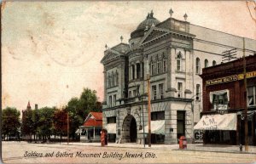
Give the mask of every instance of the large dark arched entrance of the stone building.
[(125, 142), (131, 143), (137, 141), (137, 122), (134, 116), (125, 116), (123, 123), (123, 139), (125, 139)]

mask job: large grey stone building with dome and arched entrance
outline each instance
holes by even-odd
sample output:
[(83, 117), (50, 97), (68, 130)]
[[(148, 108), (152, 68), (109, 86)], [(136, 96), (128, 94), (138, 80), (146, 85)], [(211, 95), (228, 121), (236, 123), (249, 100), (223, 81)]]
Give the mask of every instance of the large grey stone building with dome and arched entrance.
[[(190, 24), (187, 14), (184, 20), (174, 19), (172, 9), (169, 13), (160, 22), (151, 11), (131, 32), (129, 44), (120, 42), (104, 51), (102, 121), (103, 127), (115, 129), (118, 143), (142, 144), (143, 127), (147, 138), (147, 75), (152, 142), (176, 144), (181, 135), (193, 141), (202, 111), (201, 69), (221, 64), (224, 51), (242, 54), (242, 37)], [(246, 53), (252, 54), (256, 42), (245, 41)]]

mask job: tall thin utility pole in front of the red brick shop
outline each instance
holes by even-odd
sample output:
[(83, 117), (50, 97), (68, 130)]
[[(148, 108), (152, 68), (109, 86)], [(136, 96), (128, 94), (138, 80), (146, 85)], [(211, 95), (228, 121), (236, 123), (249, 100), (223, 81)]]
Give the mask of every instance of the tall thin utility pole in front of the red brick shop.
[(245, 59), (245, 39), (242, 38), (242, 59), (243, 59), (243, 79), (244, 79), (244, 130), (245, 130), (245, 151), (248, 151), (248, 119), (247, 119), (247, 67), (246, 67), (246, 59)]

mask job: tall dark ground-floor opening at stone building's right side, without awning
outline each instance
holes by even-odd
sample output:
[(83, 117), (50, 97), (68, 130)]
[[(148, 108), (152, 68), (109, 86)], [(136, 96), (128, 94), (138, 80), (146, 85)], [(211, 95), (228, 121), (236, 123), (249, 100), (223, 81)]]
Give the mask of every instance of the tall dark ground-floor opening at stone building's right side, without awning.
[(177, 139), (185, 135), (185, 111), (177, 110)]

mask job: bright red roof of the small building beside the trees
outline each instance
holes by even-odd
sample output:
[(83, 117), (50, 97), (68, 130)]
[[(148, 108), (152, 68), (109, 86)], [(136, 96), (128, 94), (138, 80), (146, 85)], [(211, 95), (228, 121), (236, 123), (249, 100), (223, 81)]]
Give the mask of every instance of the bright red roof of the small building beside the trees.
[(90, 112), (86, 117), (84, 127), (102, 127), (102, 112)]

